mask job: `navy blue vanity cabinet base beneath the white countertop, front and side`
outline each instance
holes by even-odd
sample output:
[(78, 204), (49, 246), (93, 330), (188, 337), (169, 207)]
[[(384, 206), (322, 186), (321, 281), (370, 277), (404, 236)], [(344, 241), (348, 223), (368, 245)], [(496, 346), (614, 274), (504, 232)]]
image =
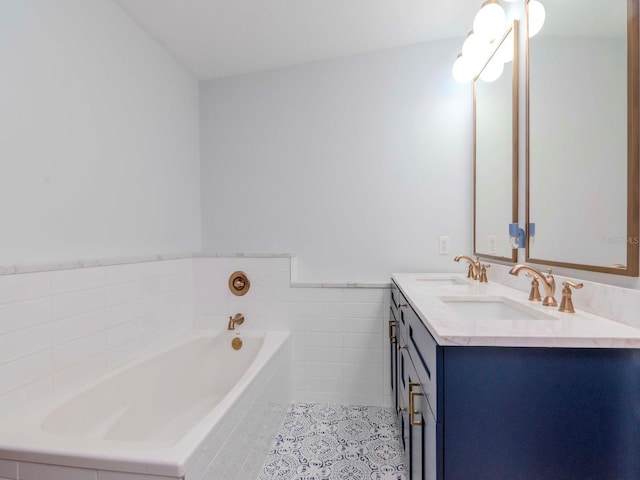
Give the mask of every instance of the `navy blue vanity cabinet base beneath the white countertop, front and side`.
[(640, 479), (640, 350), (442, 346), (395, 298), (409, 479)]

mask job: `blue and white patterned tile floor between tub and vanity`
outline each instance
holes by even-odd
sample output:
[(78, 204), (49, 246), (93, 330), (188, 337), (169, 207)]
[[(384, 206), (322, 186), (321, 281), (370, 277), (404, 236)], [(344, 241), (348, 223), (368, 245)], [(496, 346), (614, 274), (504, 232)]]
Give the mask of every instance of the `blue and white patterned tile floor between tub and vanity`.
[(393, 411), (293, 403), (258, 480), (406, 480)]

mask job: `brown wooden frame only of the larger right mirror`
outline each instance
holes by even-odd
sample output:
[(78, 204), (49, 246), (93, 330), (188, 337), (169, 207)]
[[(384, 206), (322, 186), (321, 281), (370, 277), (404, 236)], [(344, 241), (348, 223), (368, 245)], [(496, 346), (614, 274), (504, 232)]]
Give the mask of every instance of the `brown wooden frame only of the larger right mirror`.
[(530, 211), (530, 149), (529, 149), (529, 2), (525, 0), (525, 21), (527, 22), (526, 33), (526, 133), (525, 133), (525, 155), (526, 155), (526, 247), (525, 261), (529, 263), (552, 265), (557, 267), (574, 268), (576, 270), (589, 270), (599, 273), (611, 273), (614, 275), (626, 275), (629, 277), (637, 277), (640, 269), (640, 257), (638, 239), (640, 235), (640, 189), (639, 189), (639, 156), (640, 156), (640, 80), (638, 55), (639, 50), (639, 22), (638, 10), (640, 0), (627, 0), (627, 261), (624, 267), (607, 267), (601, 265), (588, 265), (581, 263), (561, 262), (557, 260), (545, 260), (542, 258), (531, 257), (529, 248), (529, 211)]

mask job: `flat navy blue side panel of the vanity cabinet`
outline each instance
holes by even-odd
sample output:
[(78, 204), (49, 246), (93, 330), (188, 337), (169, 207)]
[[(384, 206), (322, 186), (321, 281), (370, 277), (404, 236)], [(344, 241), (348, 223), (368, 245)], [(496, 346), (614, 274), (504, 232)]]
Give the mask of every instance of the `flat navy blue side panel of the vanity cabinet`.
[(447, 478), (640, 479), (640, 350), (445, 347)]

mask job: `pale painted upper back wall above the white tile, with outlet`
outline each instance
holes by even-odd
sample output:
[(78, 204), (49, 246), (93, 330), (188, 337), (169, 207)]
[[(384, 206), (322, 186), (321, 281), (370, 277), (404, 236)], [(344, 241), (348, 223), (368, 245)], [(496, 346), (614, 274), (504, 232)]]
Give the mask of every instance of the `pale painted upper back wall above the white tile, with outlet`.
[(451, 76), (460, 44), (202, 84), (204, 248), (294, 253), (300, 281), (460, 270), (453, 255), (472, 238), (472, 90)]

